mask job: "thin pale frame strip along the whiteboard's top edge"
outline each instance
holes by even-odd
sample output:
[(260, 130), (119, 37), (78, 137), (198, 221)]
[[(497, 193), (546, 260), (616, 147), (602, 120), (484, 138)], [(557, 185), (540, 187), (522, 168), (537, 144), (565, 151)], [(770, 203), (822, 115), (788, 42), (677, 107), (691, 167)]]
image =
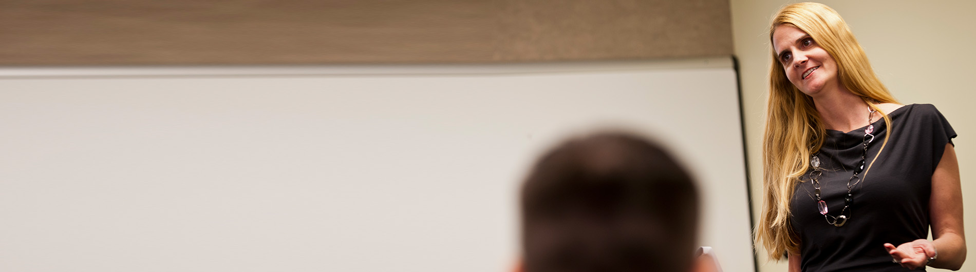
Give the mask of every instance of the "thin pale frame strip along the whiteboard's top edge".
[(478, 64), (0, 66), (0, 79), (101, 77), (504, 75), (654, 69), (734, 68), (729, 57)]

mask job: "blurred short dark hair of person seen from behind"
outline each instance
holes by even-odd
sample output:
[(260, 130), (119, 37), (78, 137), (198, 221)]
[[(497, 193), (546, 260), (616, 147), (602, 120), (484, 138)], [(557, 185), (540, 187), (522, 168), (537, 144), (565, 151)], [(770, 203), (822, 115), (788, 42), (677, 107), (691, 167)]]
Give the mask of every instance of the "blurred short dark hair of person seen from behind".
[(525, 272), (688, 271), (698, 191), (671, 155), (624, 133), (546, 153), (521, 195)]

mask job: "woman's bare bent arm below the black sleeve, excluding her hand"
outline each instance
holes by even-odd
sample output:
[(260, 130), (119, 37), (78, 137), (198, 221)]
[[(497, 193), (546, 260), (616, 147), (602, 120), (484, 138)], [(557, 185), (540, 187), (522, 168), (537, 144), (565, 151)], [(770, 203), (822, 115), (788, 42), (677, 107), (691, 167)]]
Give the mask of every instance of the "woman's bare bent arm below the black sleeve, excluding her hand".
[(959, 163), (956, 148), (950, 143), (946, 144), (946, 152), (932, 174), (932, 198), (928, 209), (932, 220), (932, 244), (939, 253), (929, 266), (958, 270), (966, 260), (966, 238), (962, 229)]

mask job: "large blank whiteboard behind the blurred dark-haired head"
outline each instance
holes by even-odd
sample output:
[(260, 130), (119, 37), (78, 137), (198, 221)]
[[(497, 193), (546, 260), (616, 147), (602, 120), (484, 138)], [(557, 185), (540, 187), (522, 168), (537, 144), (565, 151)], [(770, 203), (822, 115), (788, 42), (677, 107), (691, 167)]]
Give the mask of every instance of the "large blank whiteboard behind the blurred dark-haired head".
[(0, 69), (2, 271), (508, 271), (539, 153), (593, 128), (702, 182), (754, 271), (728, 58)]

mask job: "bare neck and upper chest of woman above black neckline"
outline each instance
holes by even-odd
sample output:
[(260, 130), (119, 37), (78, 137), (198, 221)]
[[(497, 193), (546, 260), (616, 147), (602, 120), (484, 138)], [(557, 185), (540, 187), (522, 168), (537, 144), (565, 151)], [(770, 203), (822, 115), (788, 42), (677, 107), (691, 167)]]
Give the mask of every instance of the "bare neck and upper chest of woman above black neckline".
[(813, 103), (828, 130), (847, 133), (868, 125), (871, 107), (846, 89), (813, 97)]

